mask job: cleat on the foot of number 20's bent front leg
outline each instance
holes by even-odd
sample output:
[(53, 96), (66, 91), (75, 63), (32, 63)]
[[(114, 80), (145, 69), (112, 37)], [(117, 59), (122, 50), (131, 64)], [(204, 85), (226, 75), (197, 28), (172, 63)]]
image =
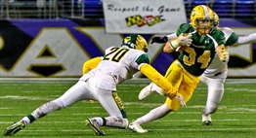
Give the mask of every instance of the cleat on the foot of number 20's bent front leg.
[(99, 123), (97, 121), (95, 121), (94, 119), (87, 119), (85, 121), (85, 125), (92, 128), (94, 130), (95, 135), (98, 135), (98, 136), (105, 135), (105, 132), (100, 128)]

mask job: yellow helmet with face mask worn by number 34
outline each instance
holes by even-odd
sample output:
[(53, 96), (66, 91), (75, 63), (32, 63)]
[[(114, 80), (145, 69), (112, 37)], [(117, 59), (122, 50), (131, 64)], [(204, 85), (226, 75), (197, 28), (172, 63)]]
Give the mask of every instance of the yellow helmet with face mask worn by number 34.
[(191, 14), (192, 27), (201, 35), (211, 31), (214, 24), (213, 11), (205, 5), (198, 5), (192, 9)]

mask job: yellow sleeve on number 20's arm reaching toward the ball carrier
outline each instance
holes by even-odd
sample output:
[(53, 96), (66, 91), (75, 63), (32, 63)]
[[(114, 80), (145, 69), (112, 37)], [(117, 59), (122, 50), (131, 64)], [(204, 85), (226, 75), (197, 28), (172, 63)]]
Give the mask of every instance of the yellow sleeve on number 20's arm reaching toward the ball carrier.
[(173, 99), (177, 94), (177, 89), (174, 88), (159, 72), (157, 72), (151, 65), (143, 64), (140, 68), (141, 72), (149, 78), (156, 86), (160, 86), (164, 95)]

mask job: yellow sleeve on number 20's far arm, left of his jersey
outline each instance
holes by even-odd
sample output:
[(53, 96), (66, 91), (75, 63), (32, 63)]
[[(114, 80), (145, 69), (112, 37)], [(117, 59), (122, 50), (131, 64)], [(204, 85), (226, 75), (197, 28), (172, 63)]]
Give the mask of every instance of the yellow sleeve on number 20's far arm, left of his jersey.
[(86, 74), (90, 70), (96, 68), (101, 61), (102, 61), (102, 57), (95, 57), (84, 62), (82, 74)]

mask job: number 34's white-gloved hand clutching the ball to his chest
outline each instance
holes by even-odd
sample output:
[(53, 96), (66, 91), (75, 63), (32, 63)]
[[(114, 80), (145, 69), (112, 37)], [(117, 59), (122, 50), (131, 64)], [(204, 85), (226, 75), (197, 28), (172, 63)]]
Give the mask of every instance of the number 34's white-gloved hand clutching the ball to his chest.
[(189, 35), (187, 35), (187, 36), (184, 36), (183, 33), (182, 33), (178, 37), (177, 40), (171, 42), (170, 47), (172, 49), (176, 49), (176, 48), (178, 48), (180, 46), (188, 46), (189, 47), (190, 45), (192, 45), (191, 37), (192, 37), (191, 33), (189, 33)]

